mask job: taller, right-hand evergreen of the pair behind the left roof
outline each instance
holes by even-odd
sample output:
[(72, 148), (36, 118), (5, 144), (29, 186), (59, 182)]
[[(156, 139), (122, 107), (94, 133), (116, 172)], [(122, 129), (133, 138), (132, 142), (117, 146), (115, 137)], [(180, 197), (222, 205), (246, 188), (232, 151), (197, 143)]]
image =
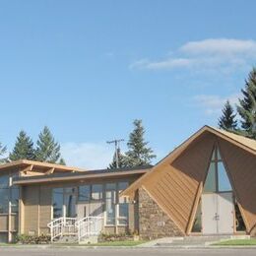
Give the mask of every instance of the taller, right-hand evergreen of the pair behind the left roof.
[[(49, 128), (45, 126), (36, 142), (35, 160), (56, 163), (60, 160), (60, 145), (55, 142)], [(62, 160), (63, 162), (63, 160)]]

